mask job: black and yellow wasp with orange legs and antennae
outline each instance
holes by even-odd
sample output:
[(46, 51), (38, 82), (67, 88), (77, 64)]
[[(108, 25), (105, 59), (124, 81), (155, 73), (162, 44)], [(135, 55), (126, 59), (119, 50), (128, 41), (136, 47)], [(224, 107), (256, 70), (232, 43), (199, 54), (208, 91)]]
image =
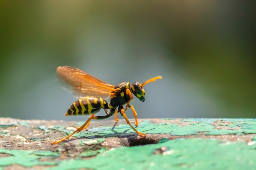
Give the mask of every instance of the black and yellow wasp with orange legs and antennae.
[[(145, 100), (144, 85), (150, 82), (155, 82), (156, 79), (162, 79), (161, 76), (148, 79), (144, 83), (134, 82), (122, 82), (113, 86), (102, 80), (80, 70), (70, 66), (59, 66), (57, 68), (58, 79), (64, 82), (63, 88), (73, 93), (73, 95), (79, 100), (74, 102), (67, 110), (65, 116), (76, 116), (76, 115), (90, 115), (90, 118), (74, 132), (67, 137), (58, 141), (51, 142), (51, 144), (57, 144), (65, 139), (68, 139), (75, 133), (81, 132), (90, 125), (92, 119), (107, 119), (108, 117), (115, 114), (115, 120), (118, 121), (117, 113), (126, 120), (127, 124), (137, 132), (138, 135), (146, 136), (145, 133), (137, 131), (131, 124), (125, 114), (127, 108), (132, 109), (132, 113), (135, 117), (135, 126), (137, 127), (137, 113), (132, 105), (130, 105), (133, 95), (137, 97), (141, 102)], [(106, 99), (110, 98), (110, 104)], [(124, 105), (125, 108), (124, 108)], [(101, 108), (105, 110), (105, 116), (95, 116)]]

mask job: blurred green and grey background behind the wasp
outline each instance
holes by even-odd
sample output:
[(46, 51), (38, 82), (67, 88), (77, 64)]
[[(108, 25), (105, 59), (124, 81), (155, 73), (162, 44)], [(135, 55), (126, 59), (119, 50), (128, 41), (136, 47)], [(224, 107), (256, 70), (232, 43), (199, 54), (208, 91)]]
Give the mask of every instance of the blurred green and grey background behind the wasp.
[(1, 1), (0, 117), (86, 120), (64, 117), (77, 99), (55, 81), (61, 65), (113, 85), (161, 75), (132, 100), (139, 118), (255, 117), (251, 2)]

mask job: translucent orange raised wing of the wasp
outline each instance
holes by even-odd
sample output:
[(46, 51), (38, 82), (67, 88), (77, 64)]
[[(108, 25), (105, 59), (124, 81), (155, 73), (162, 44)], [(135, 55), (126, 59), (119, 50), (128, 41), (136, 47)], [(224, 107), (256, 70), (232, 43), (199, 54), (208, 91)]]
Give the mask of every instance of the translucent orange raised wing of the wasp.
[(97, 96), (108, 99), (115, 91), (115, 86), (103, 82), (79, 68), (70, 66), (57, 68), (57, 80), (61, 82), (65, 90), (72, 92), (77, 98)]

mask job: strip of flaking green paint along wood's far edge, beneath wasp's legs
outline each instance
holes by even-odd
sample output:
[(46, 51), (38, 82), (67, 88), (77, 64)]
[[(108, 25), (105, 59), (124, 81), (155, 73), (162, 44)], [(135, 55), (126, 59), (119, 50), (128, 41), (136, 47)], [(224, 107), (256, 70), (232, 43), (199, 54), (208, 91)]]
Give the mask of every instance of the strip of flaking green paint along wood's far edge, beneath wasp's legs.
[[(169, 119), (164, 119), (169, 120)], [(188, 122), (186, 126), (180, 126), (173, 123), (153, 124), (149, 121), (142, 121), (136, 128), (139, 132), (151, 134), (170, 133), (170, 135), (196, 135), (198, 132), (204, 132), (206, 135), (243, 135), (256, 133), (256, 119), (177, 119)], [(216, 121), (225, 121), (218, 126), (228, 126), (228, 129), (218, 129), (214, 124)], [(84, 122), (79, 122), (78, 125)], [(67, 132), (69, 135), (72, 131), (66, 130), (65, 127), (54, 127), (56, 130)], [(82, 131), (73, 136), (75, 137), (113, 137), (124, 136), (128, 133), (135, 133), (129, 125), (119, 124), (118, 126), (103, 126), (99, 128), (90, 128), (88, 131)]]

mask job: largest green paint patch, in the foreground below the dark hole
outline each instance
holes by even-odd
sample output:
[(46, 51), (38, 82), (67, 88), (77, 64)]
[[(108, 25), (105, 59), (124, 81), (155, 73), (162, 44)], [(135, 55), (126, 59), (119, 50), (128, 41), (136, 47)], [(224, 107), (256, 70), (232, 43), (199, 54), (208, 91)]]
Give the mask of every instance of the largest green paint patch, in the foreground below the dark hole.
[(177, 139), (160, 144), (115, 148), (91, 159), (61, 161), (48, 170), (249, 170), (256, 167), (254, 145), (223, 143), (218, 139)]

